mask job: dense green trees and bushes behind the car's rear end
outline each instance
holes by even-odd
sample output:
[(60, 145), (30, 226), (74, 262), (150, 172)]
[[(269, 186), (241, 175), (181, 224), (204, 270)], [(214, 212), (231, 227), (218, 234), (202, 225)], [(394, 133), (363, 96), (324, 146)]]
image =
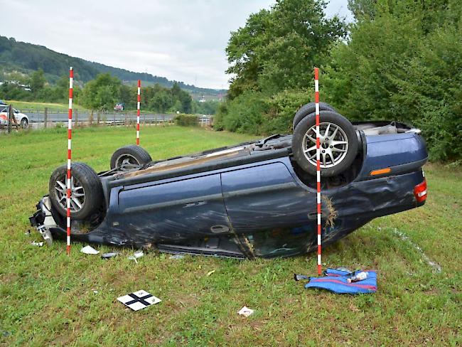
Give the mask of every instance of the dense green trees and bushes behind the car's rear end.
[(325, 8), (278, 0), (231, 33), (230, 93), (216, 126), (291, 132), (296, 109), (313, 101), (318, 66), (321, 100), (350, 120), (413, 124), (433, 159), (461, 159), (461, 1), (349, 0), (354, 23)]

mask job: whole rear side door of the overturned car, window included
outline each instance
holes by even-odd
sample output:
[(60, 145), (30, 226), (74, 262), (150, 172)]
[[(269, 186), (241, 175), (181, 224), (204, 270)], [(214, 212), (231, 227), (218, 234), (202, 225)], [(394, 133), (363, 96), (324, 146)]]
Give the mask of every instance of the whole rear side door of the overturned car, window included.
[(222, 191), (232, 228), (254, 256), (296, 255), (316, 242), (316, 193), (284, 163), (222, 173)]

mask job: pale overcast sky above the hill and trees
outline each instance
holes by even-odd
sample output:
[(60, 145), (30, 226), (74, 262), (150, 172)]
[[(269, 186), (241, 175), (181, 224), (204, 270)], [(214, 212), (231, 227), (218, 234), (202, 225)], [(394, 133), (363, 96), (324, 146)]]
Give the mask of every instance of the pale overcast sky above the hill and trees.
[[(230, 31), (274, 0), (0, 0), (1, 36), (198, 87), (227, 88)], [(328, 16), (351, 20), (347, 0)]]

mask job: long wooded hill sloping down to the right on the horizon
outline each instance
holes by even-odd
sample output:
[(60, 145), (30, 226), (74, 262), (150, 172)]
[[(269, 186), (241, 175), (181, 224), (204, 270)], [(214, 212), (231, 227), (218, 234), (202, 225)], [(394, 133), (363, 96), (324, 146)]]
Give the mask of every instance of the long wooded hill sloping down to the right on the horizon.
[(112, 66), (58, 53), (45, 46), (33, 45), (32, 43), (16, 41), (14, 38), (0, 36), (0, 72), (17, 70), (21, 73), (30, 74), (41, 68), (45, 72), (47, 80), (55, 82), (60, 76), (68, 75), (70, 66), (75, 70), (75, 80), (82, 82), (92, 80), (98, 73), (110, 73), (123, 81), (134, 83), (136, 80), (142, 80), (145, 85), (159, 83), (163, 87), (171, 87), (174, 82), (177, 82), (181, 89), (190, 92), (194, 97), (205, 95), (209, 99), (219, 97), (227, 92), (227, 90), (195, 87), (194, 85), (168, 80), (149, 73), (134, 73), (129, 70), (113, 68)]

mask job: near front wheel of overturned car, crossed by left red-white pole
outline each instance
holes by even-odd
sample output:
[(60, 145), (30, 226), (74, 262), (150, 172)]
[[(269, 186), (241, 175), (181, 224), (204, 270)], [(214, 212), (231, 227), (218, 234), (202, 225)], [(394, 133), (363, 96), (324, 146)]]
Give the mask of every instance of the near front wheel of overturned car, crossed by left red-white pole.
[[(85, 220), (95, 213), (103, 201), (103, 191), (100, 177), (87, 164), (75, 162), (71, 169), (71, 210), (70, 216), (75, 220)], [(58, 167), (53, 171), (48, 185), (48, 193), (53, 208), (60, 215), (67, 215), (67, 184), (68, 167)]]

